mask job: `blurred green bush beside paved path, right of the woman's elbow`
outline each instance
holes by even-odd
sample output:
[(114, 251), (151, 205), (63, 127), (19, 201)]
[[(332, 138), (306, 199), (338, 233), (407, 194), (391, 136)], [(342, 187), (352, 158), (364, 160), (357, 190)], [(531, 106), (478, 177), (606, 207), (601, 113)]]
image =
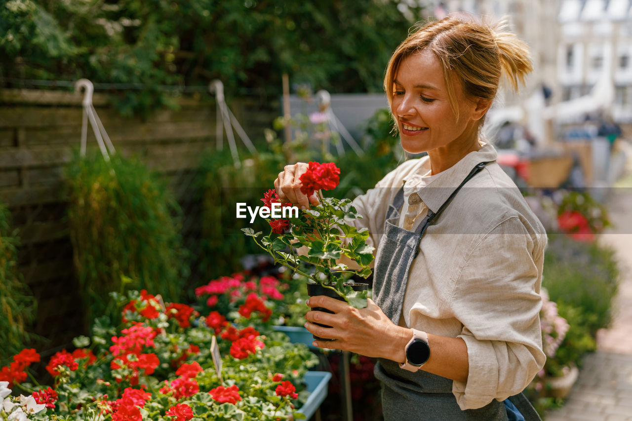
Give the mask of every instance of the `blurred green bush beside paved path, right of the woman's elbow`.
[(581, 311), (592, 336), (611, 322), (618, 281), (614, 250), (597, 243), (578, 243), (564, 235), (549, 235), (542, 284), (557, 305)]

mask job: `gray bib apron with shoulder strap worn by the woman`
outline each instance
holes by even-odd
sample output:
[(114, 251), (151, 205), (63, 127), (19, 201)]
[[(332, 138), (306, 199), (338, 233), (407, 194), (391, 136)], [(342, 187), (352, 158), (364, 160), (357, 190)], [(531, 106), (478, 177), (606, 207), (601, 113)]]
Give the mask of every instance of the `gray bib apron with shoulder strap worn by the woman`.
[[(419, 252), (419, 243), (428, 226), (441, 214), (456, 193), (487, 162), (477, 164), (437, 212), (428, 214), (416, 231), (399, 228), (399, 209), (404, 203), (403, 187), (389, 207), (375, 260), (373, 295), (377, 305), (394, 324), (399, 323), (410, 265)], [(382, 382), (382, 413), (386, 421), (507, 421), (506, 405), (497, 400), (482, 408), (461, 410), (452, 393), (453, 381), (423, 370), (413, 373), (399, 364), (378, 358), (375, 377)], [(509, 398), (526, 421), (541, 421), (523, 394)], [(513, 418), (515, 419), (515, 418)], [(518, 418), (520, 419), (520, 418)]]

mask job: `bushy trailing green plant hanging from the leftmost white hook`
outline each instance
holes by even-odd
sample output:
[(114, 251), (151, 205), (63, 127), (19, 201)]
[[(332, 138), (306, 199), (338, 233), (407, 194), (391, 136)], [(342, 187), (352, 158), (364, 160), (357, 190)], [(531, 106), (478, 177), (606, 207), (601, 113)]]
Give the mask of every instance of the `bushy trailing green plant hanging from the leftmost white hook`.
[(97, 150), (75, 154), (66, 180), (86, 322), (114, 314), (103, 299), (109, 291), (143, 288), (178, 300), (186, 252), (176, 224), (180, 209), (163, 183), (137, 159), (106, 162)]

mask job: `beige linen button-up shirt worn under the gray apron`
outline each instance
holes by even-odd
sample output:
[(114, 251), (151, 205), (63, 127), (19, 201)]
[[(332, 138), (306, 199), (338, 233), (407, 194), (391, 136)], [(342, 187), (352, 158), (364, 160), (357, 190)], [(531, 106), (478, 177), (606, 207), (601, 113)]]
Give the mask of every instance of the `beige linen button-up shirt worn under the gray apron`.
[(545, 362), (539, 293), (547, 238), (496, 157), (485, 144), (418, 189), (430, 161), (412, 159), (353, 201), (364, 216), (353, 223), (368, 228), (368, 242), (377, 248), (401, 186), (399, 226), (413, 230), (476, 164), (490, 162), (428, 227), (410, 267), (400, 320), (402, 326), (465, 341), (468, 380), (453, 383), (463, 410), (520, 393)]

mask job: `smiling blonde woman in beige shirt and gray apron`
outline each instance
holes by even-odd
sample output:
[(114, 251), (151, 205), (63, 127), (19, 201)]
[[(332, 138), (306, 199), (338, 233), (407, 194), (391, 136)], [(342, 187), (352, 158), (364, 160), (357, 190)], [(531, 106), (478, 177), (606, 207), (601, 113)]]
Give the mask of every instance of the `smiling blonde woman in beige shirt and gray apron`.
[[(546, 236), (479, 134), (501, 75), (517, 90), (531, 70), (513, 34), (453, 16), (410, 35), (389, 61), (384, 88), (401, 144), (428, 156), (354, 201), (377, 248), (375, 303), (312, 297), (310, 307), (334, 314), (307, 312), (305, 325), (334, 339), (316, 346), (378, 358), (386, 420), (539, 419), (520, 393), (545, 362)], [(317, 203), (300, 193), (305, 169), (279, 174), (282, 201)]]

